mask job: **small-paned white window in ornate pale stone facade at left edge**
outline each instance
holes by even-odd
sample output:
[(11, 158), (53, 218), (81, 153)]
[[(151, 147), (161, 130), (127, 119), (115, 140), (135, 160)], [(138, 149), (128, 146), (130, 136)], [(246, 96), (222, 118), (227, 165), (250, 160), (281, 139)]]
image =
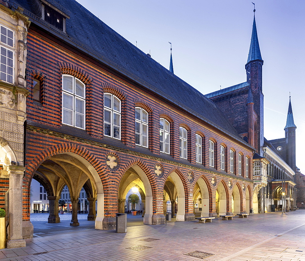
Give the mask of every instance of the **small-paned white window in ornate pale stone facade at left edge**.
[(0, 25), (0, 80), (14, 83), (14, 32)]

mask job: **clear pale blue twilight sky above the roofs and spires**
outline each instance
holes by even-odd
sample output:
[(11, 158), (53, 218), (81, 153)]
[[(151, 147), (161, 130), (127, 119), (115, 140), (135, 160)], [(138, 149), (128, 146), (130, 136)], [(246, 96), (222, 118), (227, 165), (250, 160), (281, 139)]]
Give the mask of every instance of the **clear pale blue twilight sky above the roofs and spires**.
[[(203, 94), (246, 81), (251, 0), (77, 2), (167, 69), (171, 42), (174, 74)], [(296, 165), (305, 174), (305, 1), (253, 2), (264, 60), (264, 136), (285, 136), (290, 92)]]

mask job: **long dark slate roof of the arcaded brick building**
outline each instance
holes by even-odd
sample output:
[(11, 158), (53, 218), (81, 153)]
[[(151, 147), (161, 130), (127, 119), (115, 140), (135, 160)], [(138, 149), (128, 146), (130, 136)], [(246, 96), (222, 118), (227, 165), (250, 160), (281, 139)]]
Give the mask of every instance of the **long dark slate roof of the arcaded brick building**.
[[(24, 14), (30, 16), (32, 23), (46, 25), (39, 17), (32, 16), (30, 3), (38, 0), (10, 0), (10, 3), (13, 1), (25, 9)], [(49, 26), (50, 32), (61, 34), (63, 40), (88, 50), (89, 55), (96, 55), (130, 79), (138, 80), (151, 91), (162, 94), (168, 101), (245, 143), (217, 105), (198, 90), (135, 47), (76, 1), (60, 0), (59, 4), (70, 16), (70, 19), (66, 19), (66, 34), (52, 26)]]

